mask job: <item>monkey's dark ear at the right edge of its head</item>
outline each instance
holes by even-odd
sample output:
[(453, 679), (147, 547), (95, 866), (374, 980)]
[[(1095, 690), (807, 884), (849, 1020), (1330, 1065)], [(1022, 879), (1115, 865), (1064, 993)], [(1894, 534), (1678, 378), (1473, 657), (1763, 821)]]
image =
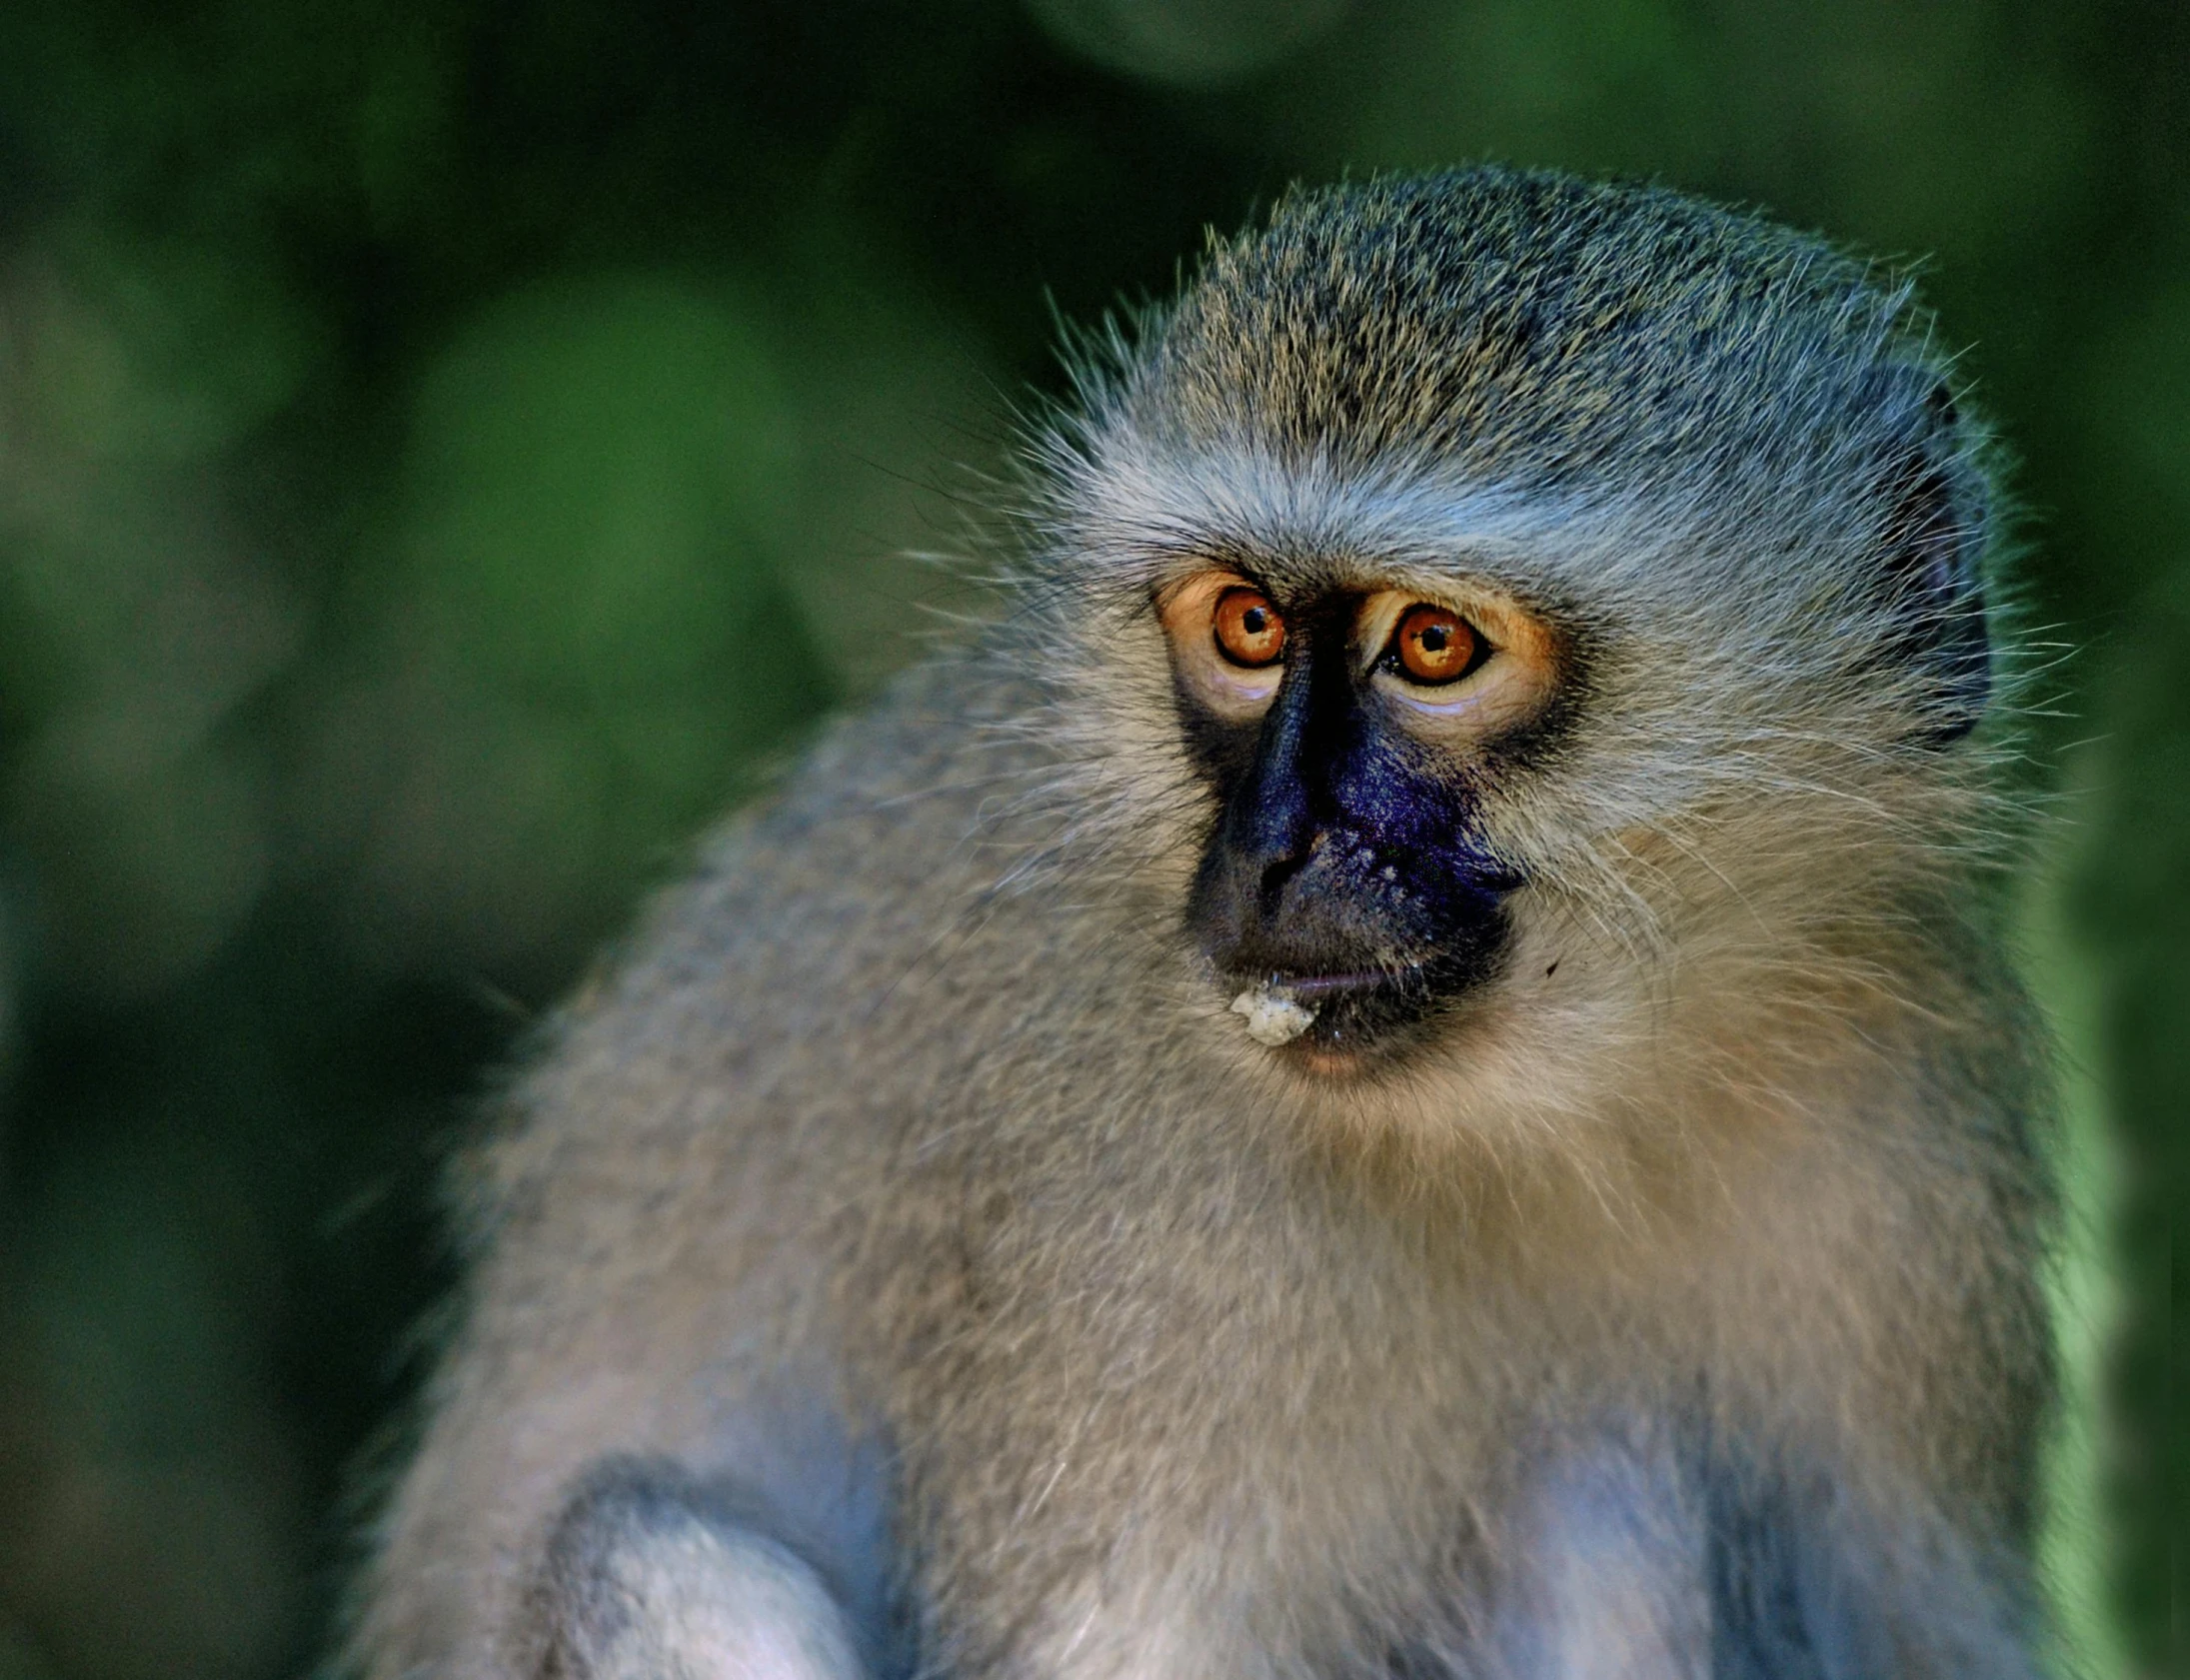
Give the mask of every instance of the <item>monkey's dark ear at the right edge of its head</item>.
[(1921, 738), (1947, 745), (1978, 727), (1993, 692), (1982, 576), (1991, 508), (1945, 381), (1929, 370), (1892, 368), (1881, 383), (1899, 434), (1886, 458), (1881, 534), (1899, 626), (1892, 655), (1932, 679)]

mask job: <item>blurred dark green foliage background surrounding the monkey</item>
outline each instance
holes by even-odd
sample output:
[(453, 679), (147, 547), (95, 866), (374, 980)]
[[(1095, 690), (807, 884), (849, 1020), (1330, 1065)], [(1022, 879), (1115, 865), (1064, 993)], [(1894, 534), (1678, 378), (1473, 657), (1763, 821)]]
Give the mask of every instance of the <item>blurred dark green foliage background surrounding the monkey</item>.
[(2091, 0), (7, 0), (0, 1676), (324, 1649), (434, 1174), (694, 832), (964, 605), (1053, 311), (1294, 177), (1925, 258), (2021, 458), (2067, 1036), (2048, 1568), (2164, 1665), (2190, 35)]

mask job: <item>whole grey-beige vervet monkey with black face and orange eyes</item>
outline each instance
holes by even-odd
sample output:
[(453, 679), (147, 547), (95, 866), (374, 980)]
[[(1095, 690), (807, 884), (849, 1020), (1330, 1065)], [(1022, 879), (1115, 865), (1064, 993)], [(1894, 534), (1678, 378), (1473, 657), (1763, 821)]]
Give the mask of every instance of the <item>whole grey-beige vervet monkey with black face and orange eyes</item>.
[(1907, 287), (1301, 191), (1031, 453), (1010, 611), (515, 1084), (361, 1667), (2035, 1673), (2010, 661)]

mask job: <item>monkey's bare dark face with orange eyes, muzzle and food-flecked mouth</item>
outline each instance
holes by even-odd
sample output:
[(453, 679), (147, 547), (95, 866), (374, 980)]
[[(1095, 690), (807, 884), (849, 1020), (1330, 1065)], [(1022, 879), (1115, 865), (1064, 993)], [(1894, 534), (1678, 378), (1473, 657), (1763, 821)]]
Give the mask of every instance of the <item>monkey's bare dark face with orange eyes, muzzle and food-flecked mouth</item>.
[(1159, 613), (1215, 795), (1194, 942), (1264, 1043), (1299, 1038), (1323, 1065), (1397, 1049), (1505, 957), (1524, 872), (1478, 808), (1500, 756), (1555, 710), (1557, 637), (1483, 591), (1233, 569), (1169, 583)]

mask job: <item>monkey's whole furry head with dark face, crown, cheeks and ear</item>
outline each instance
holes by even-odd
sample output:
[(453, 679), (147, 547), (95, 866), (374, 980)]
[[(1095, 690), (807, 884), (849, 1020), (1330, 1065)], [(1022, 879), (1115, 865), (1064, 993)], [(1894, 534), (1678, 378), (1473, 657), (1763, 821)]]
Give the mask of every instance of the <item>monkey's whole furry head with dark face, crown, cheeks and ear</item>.
[(1969, 828), (1982, 440), (1818, 241), (1509, 171), (1305, 193), (1080, 383), (1027, 646), (1281, 1065), (1555, 1056), (1662, 1003), (1658, 948), (1778, 986)]

